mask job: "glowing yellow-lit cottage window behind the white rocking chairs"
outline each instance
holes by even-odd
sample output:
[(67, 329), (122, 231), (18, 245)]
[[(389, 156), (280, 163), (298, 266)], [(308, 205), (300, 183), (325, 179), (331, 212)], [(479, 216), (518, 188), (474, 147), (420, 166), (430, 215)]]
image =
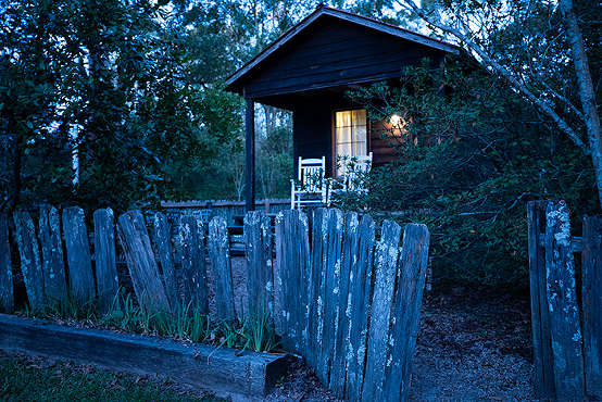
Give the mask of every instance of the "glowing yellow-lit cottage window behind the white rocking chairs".
[[(368, 141), (366, 135), (366, 110), (336, 112), (336, 155), (353, 158), (367, 155)], [(337, 176), (342, 174), (342, 167), (337, 169)]]

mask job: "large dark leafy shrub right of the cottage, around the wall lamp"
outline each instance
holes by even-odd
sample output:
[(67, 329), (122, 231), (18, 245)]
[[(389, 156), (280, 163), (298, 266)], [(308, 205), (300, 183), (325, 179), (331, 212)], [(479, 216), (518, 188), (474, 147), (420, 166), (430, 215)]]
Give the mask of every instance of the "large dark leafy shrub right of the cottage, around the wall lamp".
[(449, 60), (442, 74), (426, 63), (401, 88), (350, 93), (373, 122), (401, 123), (381, 129), (399, 160), (374, 169), (371, 191), (347, 206), (426, 224), (438, 280), (526, 288), (527, 202), (566, 200), (578, 227), (597, 210), (593, 169), (503, 83), (463, 63)]

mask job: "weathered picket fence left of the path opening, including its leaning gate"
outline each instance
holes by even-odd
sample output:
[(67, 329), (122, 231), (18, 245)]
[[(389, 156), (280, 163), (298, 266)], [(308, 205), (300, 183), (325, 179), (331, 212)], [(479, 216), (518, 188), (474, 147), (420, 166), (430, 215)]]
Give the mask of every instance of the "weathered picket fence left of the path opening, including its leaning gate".
[[(29, 213), (14, 216), (29, 304), (38, 309), (66, 296), (67, 285), (77, 298), (96, 294), (111, 300), (118, 288), (111, 210), (95, 213), (93, 252), (80, 209), (62, 212), (62, 236), (58, 217), (55, 209), (43, 208), (36, 231)], [(12, 311), (8, 227), (0, 216), (0, 302)], [(147, 310), (192, 303), (208, 312), (209, 261), (215, 316), (242, 314), (234, 303), (240, 296), (233, 289), (223, 217), (214, 217), (205, 230), (196, 215), (181, 215), (172, 227), (162, 213), (147, 225), (140, 212), (130, 211), (117, 218), (116, 233), (137, 299)], [(356, 213), (339, 210), (318, 209), (309, 217), (283, 211), (275, 236), (263, 212), (244, 216), (247, 312), (273, 312), (285, 350), (301, 354), (340, 398), (407, 398), (429, 234), (424, 225), (407, 225), (400, 247), (401, 234), (399, 225), (386, 221), (377, 241), (369, 215), (360, 219)], [(52, 267), (47, 260), (54, 261)]]

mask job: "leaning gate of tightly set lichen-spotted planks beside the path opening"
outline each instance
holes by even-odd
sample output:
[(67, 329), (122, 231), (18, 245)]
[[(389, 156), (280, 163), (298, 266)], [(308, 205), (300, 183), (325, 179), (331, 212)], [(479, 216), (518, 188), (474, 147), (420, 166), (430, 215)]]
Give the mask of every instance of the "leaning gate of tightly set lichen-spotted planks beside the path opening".
[(351, 401), (405, 401), (426, 278), (424, 225), (287, 211), (276, 219), (277, 291), (287, 350)]

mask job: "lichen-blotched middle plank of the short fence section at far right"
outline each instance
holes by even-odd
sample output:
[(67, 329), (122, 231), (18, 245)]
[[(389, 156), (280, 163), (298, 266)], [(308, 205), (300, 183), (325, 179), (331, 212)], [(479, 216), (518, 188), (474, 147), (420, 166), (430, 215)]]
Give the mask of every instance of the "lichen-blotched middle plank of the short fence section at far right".
[(552, 328), (556, 399), (581, 401), (585, 397), (584, 357), (568, 209), (564, 201), (549, 203), (545, 216), (548, 309)]

